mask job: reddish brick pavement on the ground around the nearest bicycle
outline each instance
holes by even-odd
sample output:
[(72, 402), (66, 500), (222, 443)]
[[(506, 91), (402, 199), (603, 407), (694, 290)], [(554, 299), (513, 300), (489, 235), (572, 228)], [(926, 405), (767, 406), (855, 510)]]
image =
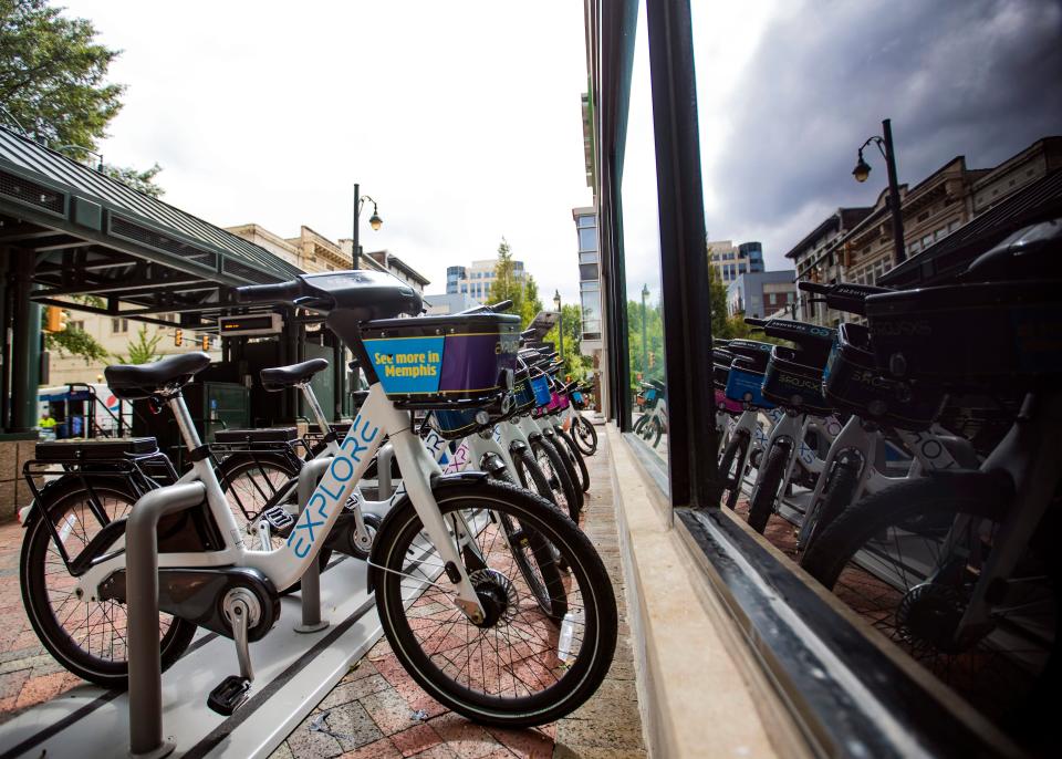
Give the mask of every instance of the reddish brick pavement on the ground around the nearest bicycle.
[[(539, 729), (480, 727), (427, 696), (398, 665), (384, 640), (292, 731), (273, 758), (645, 757), (607, 438), (601, 434), (600, 440), (597, 454), (586, 461), (592, 486), (586, 496), (583, 529), (597, 545), (613, 579), (621, 627), (615, 662), (590, 701), (569, 718)], [(17, 522), (0, 524), (0, 724), (82, 683), (48, 655), (29, 625), (19, 593), (21, 542), (22, 530)], [(341, 738), (309, 729), (325, 711), (325, 726)]]

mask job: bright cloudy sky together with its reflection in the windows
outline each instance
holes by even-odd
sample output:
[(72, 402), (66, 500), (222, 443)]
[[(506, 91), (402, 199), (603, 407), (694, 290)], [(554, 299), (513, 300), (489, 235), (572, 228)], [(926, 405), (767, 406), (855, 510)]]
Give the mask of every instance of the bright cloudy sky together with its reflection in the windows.
[[(386, 247), (444, 287), (502, 236), (544, 292), (575, 298), (571, 209), (590, 202), (582, 3), (64, 0), (125, 52), (108, 162), (157, 160), (166, 199), (220, 226), (348, 237), (352, 184)], [(991, 166), (1062, 134), (1051, 0), (693, 0), (709, 235), (769, 267), (832, 209), (868, 205), (893, 119), (902, 181)], [(648, 66), (639, 20), (624, 179), (631, 281), (654, 269)]]

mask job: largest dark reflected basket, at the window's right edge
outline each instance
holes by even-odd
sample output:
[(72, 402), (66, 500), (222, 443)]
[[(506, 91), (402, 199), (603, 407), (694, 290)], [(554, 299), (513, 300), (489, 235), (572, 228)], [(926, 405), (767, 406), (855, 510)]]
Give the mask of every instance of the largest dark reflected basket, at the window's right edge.
[(873, 295), (879, 368), (965, 384), (1062, 374), (1062, 282), (991, 282)]

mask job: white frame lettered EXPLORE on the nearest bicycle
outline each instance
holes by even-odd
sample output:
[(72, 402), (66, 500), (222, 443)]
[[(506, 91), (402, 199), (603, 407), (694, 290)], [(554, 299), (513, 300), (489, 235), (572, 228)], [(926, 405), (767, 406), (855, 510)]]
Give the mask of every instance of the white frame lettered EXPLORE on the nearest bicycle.
[[(167, 401), (177, 419), (177, 426), (189, 450), (201, 445), (191, 416), (180, 395)], [(354, 491), (384, 437), (391, 439), (395, 457), (403, 472), (403, 486), (425, 531), (438, 550), (444, 563), (450, 562), (459, 578), (455, 583), (455, 604), (473, 621), (482, 618), (483, 609), (469, 581), (454, 537), (447, 528), (431, 493), (430, 477), (442, 474), (420, 438), (413, 432), (409, 415), (395, 408), (379, 383), (368, 389), (368, 397), (354, 419), (350, 432), (337, 446), (337, 454), (308, 503), (304, 505), (287, 543), (275, 550), (248, 550), (242, 530), (237, 524), (228, 500), (221, 490), (209, 458), (192, 464), (181, 482), (200, 481), (206, 487), (207, 505), (221, 528), (225, 548), (208, 552), (160, 553), (158, 565), (165, 568), (250, 566), (261, 571), (278, 590), (294, 584), (316, 561), (317, 552), (342, 513), (347, 498)], [(136, 508), (134, 506), (134, 508)], [(124, 569), (124, 553), (101, 561), (77, 579), (81, 597), (100, 597), (100, 584), (114, 572)]]

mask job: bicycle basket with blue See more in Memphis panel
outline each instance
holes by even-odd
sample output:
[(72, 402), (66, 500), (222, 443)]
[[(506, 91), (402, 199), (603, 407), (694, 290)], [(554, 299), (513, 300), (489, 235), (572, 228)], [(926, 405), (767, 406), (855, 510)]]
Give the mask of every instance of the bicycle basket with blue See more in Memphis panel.
[(403, 408), (490, 404), (512, 388), (520, 318), (455, 314), (382, 319), (362, 341), (384, 392)]

